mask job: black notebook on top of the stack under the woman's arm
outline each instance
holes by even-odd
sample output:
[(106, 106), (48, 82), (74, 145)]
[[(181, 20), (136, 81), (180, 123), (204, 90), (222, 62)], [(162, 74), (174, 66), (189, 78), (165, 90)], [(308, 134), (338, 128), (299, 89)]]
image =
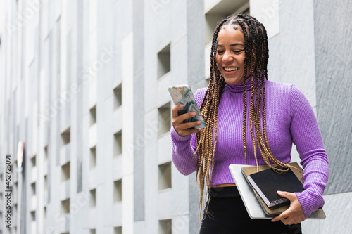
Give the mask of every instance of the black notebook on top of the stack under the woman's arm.
[(303, 184), (291, 169), (277, 173), (273, 169), (266, 169), (248, 176), (248, 181), (262, 198), (265, 204), (272, 209), (289, 204), (289, 200), (280, 197), (277, 191), (289, 193), (303, 191)]

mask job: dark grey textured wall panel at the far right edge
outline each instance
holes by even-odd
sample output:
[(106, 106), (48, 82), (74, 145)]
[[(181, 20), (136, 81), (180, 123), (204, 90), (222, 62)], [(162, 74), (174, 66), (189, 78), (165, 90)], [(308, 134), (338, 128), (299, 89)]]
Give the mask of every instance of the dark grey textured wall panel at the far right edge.
[(318, 122), (329, 155), (326, 193), (352, 191), (351, 1), (314, 1)]

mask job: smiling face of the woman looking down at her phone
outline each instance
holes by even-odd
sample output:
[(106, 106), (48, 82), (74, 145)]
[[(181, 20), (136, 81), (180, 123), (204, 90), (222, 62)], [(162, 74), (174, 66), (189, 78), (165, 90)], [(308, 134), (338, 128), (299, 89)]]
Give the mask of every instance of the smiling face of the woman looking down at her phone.
[(244, 58), (244, 34), (233, 27), (223, 27), (218, 33), (216, 64), (227, 84), (243, 82)]

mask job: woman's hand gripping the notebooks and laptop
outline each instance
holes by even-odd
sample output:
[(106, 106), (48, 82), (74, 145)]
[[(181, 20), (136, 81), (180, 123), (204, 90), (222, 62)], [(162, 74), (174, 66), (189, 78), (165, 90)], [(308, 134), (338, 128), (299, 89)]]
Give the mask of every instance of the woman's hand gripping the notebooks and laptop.
[(289, 209), (287, 209), (286, 211), (282, 212), (282, 214), (279, 214), (278, 216), (273, 218), (271, 220), (272, 222), (281, 220), (282, 223), (286, 225), (291, 225), (291, 224), (301, 223), (306, 219), (306, 216), (304, 216), (304, 213), (303, 213), (301, 202), (299, 202), (295, 193), (277, 191), (277, 194), (280, 197), (287, 198), (291, 202), (291, 204), (289, 206)]

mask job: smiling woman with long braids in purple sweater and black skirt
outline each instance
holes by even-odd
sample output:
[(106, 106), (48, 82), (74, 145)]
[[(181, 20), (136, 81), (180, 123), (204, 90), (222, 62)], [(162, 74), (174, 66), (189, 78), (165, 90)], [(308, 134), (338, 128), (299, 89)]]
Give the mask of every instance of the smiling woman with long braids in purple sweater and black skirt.
[[(293, 84), (267, 80), (268, 37), (249, 15), (227, 17), (216, 27), (208, 88), (194, 93), (205, 129), (184, 123), (194, 113), (172, 109), (172, 161), (185, 175), (196, 171), (208, 202), (200, 233), (301, 233), (301, 221), (322, 207), (328, 177), (327, 155), (308, 100)], [(250, 136), (250, 137), (247, 137)], [(250, 219), (228, 169), (229, 164), (288, 167), (292, 143), (304, 169), (302, 193), (278, 192), (290, 207), (270, 220)]]

